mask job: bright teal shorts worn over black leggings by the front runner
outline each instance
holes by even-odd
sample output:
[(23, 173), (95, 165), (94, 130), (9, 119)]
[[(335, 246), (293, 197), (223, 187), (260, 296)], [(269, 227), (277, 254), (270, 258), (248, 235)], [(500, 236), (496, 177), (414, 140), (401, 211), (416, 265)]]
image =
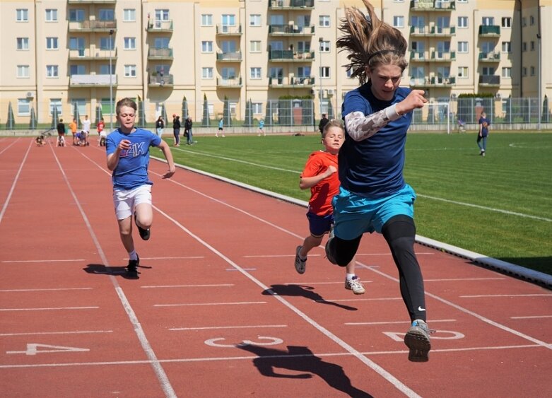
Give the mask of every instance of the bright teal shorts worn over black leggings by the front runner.
[(382, 233), (382, 227), (394, 216), (414, 218), (416, 193), (405, 184), (399, 192), (377, 199), (368, 199), (348, 192), (343, 187), (331, 201), (334, 205), (334, 235), (353, 240), (363, 233)]

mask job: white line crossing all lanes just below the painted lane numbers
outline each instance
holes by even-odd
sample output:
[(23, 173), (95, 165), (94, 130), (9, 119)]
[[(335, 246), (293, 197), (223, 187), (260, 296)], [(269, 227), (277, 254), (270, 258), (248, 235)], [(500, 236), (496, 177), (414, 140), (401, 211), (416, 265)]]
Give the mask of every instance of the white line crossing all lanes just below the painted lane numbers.
[[(481, 346), (481, 347), (465, 347), (462, 349), (432, 349), (431, 353), (449, 353), (449, 352), (461, 352), (461, 351), (488, 351), (488, 350), (511, 350), (511, 349), (536, 349), (542, 348), (538, 344), (524, 344), (517, 346)], [(397, 355), (404, 356), (409, 351), (363, 351), (362, 355), (367, 356), (379, 356), (379, 355)], [(353, 353), (312, 353), (312, 354), (296, 354), (296, 355), (274, 355), (263, 356), (264, 359), (269, 358), (328, 358), (336, 356), (355, 356)], [(192, 362), (214, 362), (214, 361), (251, 361), (252, 359), (259, 358), (258, 356), (220, 356), (211, 358), (176, 358), (176, 359), (160, 359), (160, 363), (192, 363)], [(74, 363), (35, 363), (28, 365), (0, 365), (0, 369), (21, 369), (21, 368), (69, 368), (77, 366), (112, 366), (112, 365), (143, 365), (152, 364), (152, 361), (112, 361), (112, 362), (74, 362)]]

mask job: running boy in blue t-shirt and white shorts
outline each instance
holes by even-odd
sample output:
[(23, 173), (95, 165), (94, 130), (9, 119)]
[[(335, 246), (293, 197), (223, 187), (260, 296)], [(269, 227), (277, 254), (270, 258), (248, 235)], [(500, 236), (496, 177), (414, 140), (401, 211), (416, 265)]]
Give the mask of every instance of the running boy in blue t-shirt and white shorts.
[(134, 127), (136, 103), (123, 98), (115, 111), (119, 128), (107, 136), (107, 168), (112, 171), (113, 202), (119, 235), (129, 253), (129, 276), (138, 277), (140, 258), (132, 239), (132, 217), (139, 230), (140, 238), (150, 238), (153, 221), (151, 186), (148, 177), (149, 147), (156, 146), (163, 151), (169, 170), (161, 178), (170, 178), (176, 172), (175, 163), (168, 144), (153, 132)]

